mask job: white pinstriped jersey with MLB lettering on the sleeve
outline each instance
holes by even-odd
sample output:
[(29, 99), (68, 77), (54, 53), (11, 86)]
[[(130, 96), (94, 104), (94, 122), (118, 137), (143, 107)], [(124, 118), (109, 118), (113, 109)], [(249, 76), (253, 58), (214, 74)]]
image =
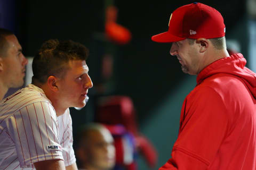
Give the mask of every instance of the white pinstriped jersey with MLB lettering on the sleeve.
[(74, 164), (69, 109), (56, 116), (44, 91), (33, 84), (0, 104), (0, 169), (35, 169), (33, 163), (62, 159)]

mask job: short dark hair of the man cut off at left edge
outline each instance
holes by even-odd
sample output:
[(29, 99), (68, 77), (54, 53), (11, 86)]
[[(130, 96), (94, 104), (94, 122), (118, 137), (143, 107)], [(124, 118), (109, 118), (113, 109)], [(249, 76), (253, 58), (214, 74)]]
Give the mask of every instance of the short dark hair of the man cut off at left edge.
[(5, 37), (10, 35), (14, 35), (12, 31), (0, 28), (0, 57), (5, 56), (8, 47), (8, 42)]

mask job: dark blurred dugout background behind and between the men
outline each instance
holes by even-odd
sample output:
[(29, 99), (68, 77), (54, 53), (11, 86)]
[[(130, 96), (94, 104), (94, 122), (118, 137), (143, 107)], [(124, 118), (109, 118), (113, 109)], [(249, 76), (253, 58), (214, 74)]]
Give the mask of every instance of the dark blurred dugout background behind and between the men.
[[(114, 3), (119, 10), (117, 23), (131, 31), (129, 44), (117, 45), (102, 40), (106, 2)], [(167, 31), (172, 11), (191, 1), (2, 0), (0, 3), (1, 27), (14, 31), (25, 56), (33, 56), (43, 41), (50, 38), (78, 41), (90, 49), (87, 64), (95, 85), (101, 82), (100, 57), (111, 53), (114, 72), (106, 83), (108, 94), (132, 98), (139, 129), (158, 151), (157, 167), (170, 158), (177, 139), (182, 102), (194, 88), (196, 77), (182, 73), (177, 58), (169, 54), (171, 44), (154, 43), (150, 38)], [(226, 38), (237, 40), (246, 56), (248, 17), (245, 1), (202, 3), (220, 11), (226, 24)], [(91, 103), (95, 94), (95, 89), (89, 90), (91, 99), (83, 112), (71, 109), (74, 132), (78, 125), (92, 120)], [(148, 169), (140, 157), (139, 169)]]

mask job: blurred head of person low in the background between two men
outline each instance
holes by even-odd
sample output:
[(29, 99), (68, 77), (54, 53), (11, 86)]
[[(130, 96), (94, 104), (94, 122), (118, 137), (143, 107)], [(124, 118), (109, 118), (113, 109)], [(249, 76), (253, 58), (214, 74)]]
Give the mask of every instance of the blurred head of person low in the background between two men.
[(115, 166), (114, 139), (105, 126), (90, 123), (79, 132), (76, 156), (78, 167), (86, 170), (109, 170)]

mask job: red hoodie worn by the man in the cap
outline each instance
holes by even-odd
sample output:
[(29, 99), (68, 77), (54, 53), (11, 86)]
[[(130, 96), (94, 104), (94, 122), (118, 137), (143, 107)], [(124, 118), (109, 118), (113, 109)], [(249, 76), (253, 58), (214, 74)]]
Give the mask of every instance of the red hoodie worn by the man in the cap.
[(198, 74), (182, 106), (172, 158), (159, 169), (256, 169), (256, 74), (245, 64), (234, 54)]

